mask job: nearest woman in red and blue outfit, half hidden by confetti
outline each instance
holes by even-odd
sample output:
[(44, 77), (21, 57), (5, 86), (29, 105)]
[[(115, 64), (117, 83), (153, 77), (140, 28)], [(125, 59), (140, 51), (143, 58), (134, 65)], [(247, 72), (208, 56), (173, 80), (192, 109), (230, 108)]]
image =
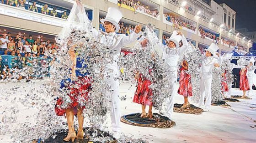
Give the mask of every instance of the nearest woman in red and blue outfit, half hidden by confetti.
[[(73, 62), (73, 66), (71, 67), (72, 77), (71, 79), (63, 80), (61, 82), (61, 87), (60, 87), (60, 88), (65, 87), (67, 90), (70, 91), (68, 96), (70, 97), (70, 100), (72, 102), (69, 103), (67, 107), (62, 108), (61, 105), (63, 104), (63, 101), (61, 98), (59, 98), (55, 105), (56, 115), (64, 116), (64, 114), (66, 114), (66, 118), (69, 126), (69, 133), (67, 137), (64, 138), (64, 141), (67, 141), (67, 142), (69, 142), (70, 139), (72, 142), (74, 142), (75, 138), (79, 138), (79, 139), (84, 138), (83, 109), (85, 108), (85, 106), (80, 105), (79, 102), (87, 101), (88, 92), (91, 89), (91, 80), (87, 77), (88, 73), (80, 72), (81, 70), (86, 70), (86, 69), (84, 69), (85, 66), (81, 64), (80, 58), (76, 58), (75, 51), (74, 51), (75, 46), (73, 46), (69, 50), (70, 59)], [(74, 82), (73, 78), (75, 79), (76, 77), (78, 77), (78, 80)], [(74, 115), (77, 116), (78, 124), (79, 124), (77, 135), (75, 133), (75, 128), (74, 128)]]

